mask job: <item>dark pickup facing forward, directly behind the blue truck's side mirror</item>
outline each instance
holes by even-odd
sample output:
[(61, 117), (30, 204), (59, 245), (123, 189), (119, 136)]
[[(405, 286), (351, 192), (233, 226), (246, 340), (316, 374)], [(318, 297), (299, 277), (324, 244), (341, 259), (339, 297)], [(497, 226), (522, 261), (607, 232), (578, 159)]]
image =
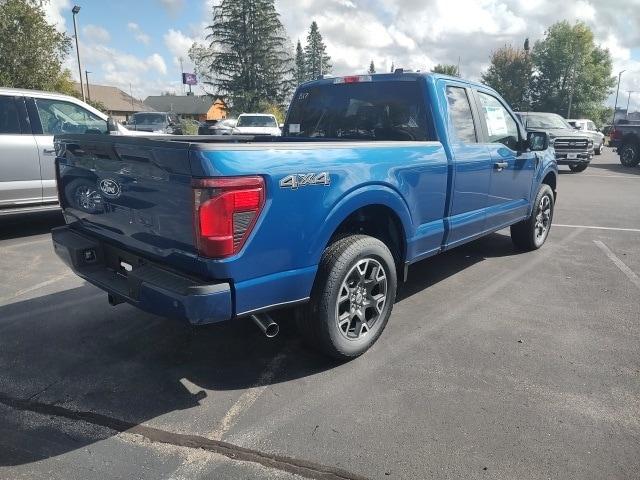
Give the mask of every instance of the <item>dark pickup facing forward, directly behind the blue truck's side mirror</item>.
[(593, 140), (579, 133), (560, 115), (544, 112), (517, 114), (527, 130), (549, 134), (558, 165), (568, 165), (572, 172), (584, 172), (593, 159)]

